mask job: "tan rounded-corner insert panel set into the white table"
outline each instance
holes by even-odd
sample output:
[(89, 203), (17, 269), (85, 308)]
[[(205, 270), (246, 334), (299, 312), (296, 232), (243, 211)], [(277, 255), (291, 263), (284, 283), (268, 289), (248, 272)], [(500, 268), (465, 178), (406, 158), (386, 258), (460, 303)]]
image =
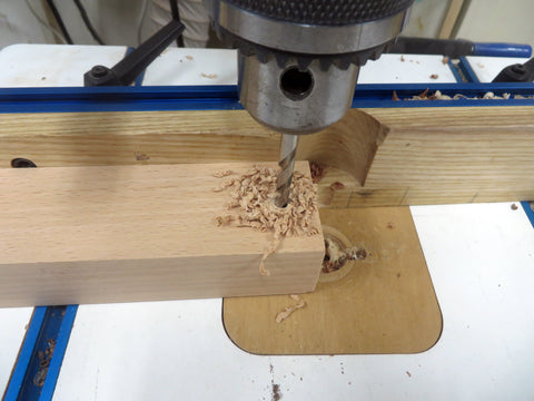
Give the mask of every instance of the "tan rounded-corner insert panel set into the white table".
[[(408, 207), (322, 209), (323, 225), (342, 232), (367, 257), (322, 273), (304, 309), (275, 317), (289, 296), (225, 299), (229, 338), (257, 354), (414, 353), (442, 332), (442, 314)], [(334, 276), (334, 280), (332, 276)]]

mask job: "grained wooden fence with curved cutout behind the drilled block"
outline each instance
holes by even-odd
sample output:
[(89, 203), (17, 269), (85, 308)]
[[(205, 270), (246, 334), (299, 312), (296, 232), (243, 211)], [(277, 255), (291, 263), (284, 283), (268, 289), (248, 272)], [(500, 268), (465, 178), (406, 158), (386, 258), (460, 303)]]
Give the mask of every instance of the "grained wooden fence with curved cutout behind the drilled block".
[[(0, 167), (276, 162), (279, 135), (244, 110), (13, 114), (0, 118)], [(303, 136), (320, 162), (325, 207), (534, 198), (532, 107), (352, 109)], [(339, 182), (343, 189), (332, 190)]]

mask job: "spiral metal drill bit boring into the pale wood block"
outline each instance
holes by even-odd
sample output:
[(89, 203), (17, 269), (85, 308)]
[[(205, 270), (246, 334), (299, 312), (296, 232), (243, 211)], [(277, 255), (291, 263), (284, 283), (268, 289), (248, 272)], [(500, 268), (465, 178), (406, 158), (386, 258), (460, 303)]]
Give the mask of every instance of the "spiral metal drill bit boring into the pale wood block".
[(298, 135), (283, 134), (280, 141), (280, 172), (276, 180), (276, 197), (275, 205), (278, 207), (286, 207), (290, 202), (289, 192), (291, 189), (293, 170), (295, 168), (295, 155), (297, 153)]

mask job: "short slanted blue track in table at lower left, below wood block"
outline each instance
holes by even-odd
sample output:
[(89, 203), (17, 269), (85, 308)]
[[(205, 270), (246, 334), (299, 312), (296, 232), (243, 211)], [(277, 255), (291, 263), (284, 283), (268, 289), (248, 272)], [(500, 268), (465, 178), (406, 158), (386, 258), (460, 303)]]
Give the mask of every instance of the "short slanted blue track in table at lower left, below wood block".
[(6, 401), (52, 399), (77, 307), (36, 307), (6, 392)]

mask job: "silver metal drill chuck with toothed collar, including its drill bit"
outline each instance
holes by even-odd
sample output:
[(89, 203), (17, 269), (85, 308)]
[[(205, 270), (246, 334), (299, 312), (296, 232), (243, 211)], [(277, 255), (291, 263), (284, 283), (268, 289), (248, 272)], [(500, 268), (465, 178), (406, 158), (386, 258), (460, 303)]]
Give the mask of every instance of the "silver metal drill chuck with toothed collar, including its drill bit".
[(243, 106), (281, 133), (276, 205), (287, 205), (298, 136), (339, 120), (359, 67), (406, 25), (414, 0), (204, 0), (217, 35), (238, 49)]

